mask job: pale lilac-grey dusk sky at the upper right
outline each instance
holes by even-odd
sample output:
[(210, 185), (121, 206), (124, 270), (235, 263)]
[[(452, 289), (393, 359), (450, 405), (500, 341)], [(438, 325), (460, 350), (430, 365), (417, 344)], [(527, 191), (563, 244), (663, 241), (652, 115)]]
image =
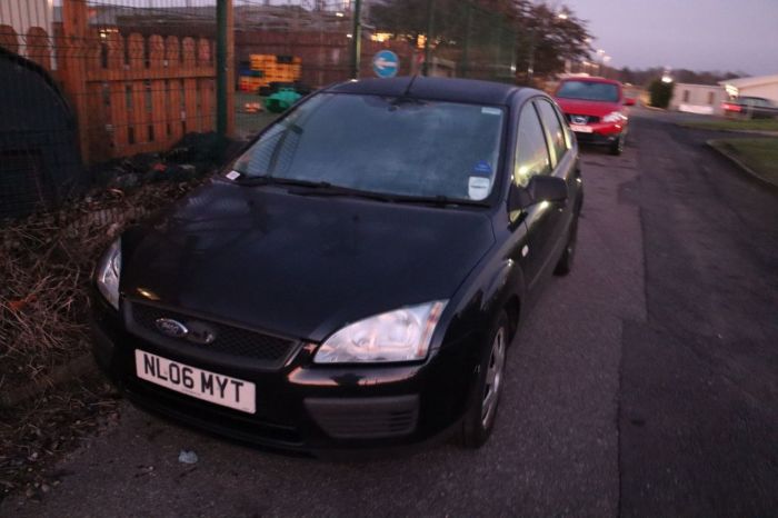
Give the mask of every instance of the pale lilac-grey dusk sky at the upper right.
[[(555, 2), (556, 3), (556, 2)], [(563, 0), (621, 68), (778, 73), (778, 0)]]

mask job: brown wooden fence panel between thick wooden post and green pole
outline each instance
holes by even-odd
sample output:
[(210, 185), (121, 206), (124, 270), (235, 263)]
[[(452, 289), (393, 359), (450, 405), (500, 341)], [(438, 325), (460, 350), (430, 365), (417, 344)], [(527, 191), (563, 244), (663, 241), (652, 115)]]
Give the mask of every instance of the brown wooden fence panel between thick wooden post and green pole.
[[(119, 32), (94, 41), (82, 60), (89, 110), (104, 118), (90, 117), (86, 128), (94, 159), (163, 151), (184, 131), (213, 130), (216, 69), (210, 41)], [(109, 106), (99, 109), (91, 96), (103, 90)], [(97, 127), (109, 128), (110, 139), (99, 138)]]

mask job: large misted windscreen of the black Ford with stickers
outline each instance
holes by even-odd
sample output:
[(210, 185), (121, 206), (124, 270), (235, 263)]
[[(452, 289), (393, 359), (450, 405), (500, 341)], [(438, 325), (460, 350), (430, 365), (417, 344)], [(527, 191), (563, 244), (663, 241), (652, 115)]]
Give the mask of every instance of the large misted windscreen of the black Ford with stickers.
[(270, 127), (233, 169), (403, 197), (483, 200), (502, 108), (322, 93)]

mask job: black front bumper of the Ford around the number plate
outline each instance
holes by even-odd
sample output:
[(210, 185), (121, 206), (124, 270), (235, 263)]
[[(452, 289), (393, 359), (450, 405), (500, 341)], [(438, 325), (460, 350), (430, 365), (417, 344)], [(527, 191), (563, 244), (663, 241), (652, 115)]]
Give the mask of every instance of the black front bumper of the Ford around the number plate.
[[(476, 336), (441, 347), (422, 363), (322, 366), (297, 342), (280, 368), (209, 358), (128, 331), (100, 297), (93, 303), (93, 351), (108, 377), (138, 406), (177, 421), (273, 449), (373, 450), (421, 444), (456, 426), (476, 380)], [(256, 385), (253, 415), (203, 401), (136, 376), (134, 350)]]

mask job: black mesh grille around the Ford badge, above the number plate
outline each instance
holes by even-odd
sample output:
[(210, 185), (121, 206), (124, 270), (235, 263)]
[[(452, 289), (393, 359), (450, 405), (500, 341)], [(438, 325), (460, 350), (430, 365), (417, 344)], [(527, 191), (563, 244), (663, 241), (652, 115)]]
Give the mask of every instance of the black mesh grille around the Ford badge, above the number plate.
[[(173, 342), (180, 346), (186, 346), (187, 348), (217, 352), (233, 358), (261, 360), (262, 362), (268, 363), (268, 366), (278, 366), (281, 363), (289, 356), (291, 349), (296, 345), (295, 340), (279, 338), (221, 322), (215, 322), (209, 319), (202, 319), (143, 303), (131, 303), (130, 315), (130, 320), (132, 325), (134, 325), (131, 327), (139, 328), (147, 337), (153, 337), (153, 341), (163, 343)], [(189, 341), (186, 338), (171, 338), (162, 335), (157, 328), (156, 322), (159, 318), (173, 319), (183, 323), (184, 326), (188, 326), (189, 322), (206, 325), (215, 331), (216, 339), (211, 343), (205, 345)]]

